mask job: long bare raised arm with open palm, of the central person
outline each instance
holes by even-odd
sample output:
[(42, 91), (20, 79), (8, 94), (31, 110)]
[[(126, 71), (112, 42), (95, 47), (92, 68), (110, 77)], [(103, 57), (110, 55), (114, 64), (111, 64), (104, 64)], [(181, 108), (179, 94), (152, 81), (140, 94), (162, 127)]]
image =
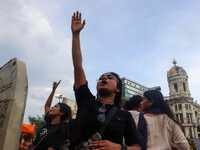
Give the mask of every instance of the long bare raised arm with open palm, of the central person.
[(80, 46), (80, 31), (85, 25), (85, 20), (81, 21), (81, 13), (78, 11), (72, 16), (72, 59), (74, 65), (74, 85), (75, 89), (86, 83), (85, 72), (82, 67), (82, 54)]

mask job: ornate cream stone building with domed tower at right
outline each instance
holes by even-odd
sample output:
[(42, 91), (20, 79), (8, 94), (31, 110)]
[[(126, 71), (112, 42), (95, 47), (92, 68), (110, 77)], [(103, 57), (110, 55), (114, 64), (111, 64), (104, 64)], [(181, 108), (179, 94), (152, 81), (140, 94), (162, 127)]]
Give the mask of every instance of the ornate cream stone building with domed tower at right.
[(186, 71), (176, 65), (176, 60), (173, 64), (174, 66), (167, 71), (169, 97), (166, 101), (180, 122), (185, 136), (197, 138), (197, 125), (200, 125), (200, 105), (191, 97)]

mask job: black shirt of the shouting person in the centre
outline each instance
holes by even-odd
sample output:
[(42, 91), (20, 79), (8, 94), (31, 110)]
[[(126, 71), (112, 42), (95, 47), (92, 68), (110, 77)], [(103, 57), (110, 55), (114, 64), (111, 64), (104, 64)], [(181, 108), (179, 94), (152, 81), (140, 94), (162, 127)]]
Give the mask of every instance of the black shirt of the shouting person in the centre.
[[(97, 116), (99, 115), (99, 107), (103, 106), (103, 104), (95, 100), (95, 96), (88, 89), (87, 83), (75, 90), (75, 96), (78, 106), (76, 118), (77, 130), (72, 143), (78, 145), (81, 142), (86, 142), (102, 126), (102, 122), (97, 120)], [(104, 106), (106, 107), (105, 115), (108, 114), (113, 106), (109, 104)], [(136, 126), (131, 114), (128, 111), (118, 109), (107, 125), (102, 135), (102, 140), (122, 144), (123, 137), (125, 144), (128, 146), (139, 144)]]

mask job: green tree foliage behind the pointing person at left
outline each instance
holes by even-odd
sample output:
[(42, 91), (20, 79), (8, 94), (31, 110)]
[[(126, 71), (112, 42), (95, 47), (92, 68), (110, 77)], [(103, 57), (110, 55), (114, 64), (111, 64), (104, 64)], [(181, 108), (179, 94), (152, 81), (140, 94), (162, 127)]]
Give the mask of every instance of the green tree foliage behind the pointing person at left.
[(45, 124), (44, 115), (42, 115), (42, 116), (37, 115), (36, 117), (35, 116), (28, 116), (28, 122), (31, 125), (35, 124), (35, 133), (37, 133), (38, 130), (40, 128), (42, 128), (42, 126), (44, 126), (44, 124)]

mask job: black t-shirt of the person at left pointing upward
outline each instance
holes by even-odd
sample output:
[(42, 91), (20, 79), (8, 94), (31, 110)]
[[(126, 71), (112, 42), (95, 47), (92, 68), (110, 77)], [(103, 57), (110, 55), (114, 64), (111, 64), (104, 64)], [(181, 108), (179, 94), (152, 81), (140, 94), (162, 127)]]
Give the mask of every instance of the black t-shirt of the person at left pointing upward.
[(38, 131), (34, 145), (36, 145), (40, 141), (40, 139), (50, 131), (50, 133), (37, 146), (36, 150), (47, 150), (49, 147), (53, 147), (55, 150), (59, 150), (61, 144), (63, 144), (64, 140), (66, 139), (67, 125), (52, 125), (47, 118), (50, 119), (48, 113), (45, 116), (45, 120), (47, 122)]

